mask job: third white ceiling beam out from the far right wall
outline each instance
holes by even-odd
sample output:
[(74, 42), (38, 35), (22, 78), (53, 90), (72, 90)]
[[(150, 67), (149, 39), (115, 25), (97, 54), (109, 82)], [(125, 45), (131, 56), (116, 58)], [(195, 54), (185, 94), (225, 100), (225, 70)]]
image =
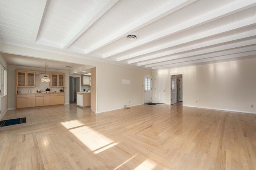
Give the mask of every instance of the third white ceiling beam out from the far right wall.
[(146, 61), (146, 62), (138, 63), (138, 66), (146, 65), (145, 67), (148, 68), (148, 67), (153, 67), (153, 66), (172, 64), (172, 60), (176, 60), (176, 59), (182, 59), (182, 58), (192, 57), (192, 56), (196, 56), (196, 55), (203, 55), (205, 53), (214, 53), (217, 51), (229, 50), (229, 49), (233, 49), (233, 48), (240, 48), (240, 47), (244, 47), (247, 45), (254, 45), (254, 44), (256, 44), (256, 41), (255, 41), (255, 39), (252, 39), (252, 40), (248, 40), (248, 41), (242, 41), (242, 42), (238, 42), (238, 43), (222, 45), (220, 47), (214, 47), (214, 48), (210, 48), (210, 49), (194, 51), (194, 52), (185, 53), (185, 54), (181, 54), (181, 55), (173, 55), (170, 57), (165, 57), (165, 58), (156, 59), (156, 60), (152, 60), (152, 61)]

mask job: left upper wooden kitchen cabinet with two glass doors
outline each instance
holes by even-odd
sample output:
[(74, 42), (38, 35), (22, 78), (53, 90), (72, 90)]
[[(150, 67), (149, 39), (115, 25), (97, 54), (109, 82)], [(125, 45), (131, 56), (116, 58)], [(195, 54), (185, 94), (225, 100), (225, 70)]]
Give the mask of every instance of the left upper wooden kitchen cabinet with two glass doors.
[(16, 71), (16, 87), (35, 87), (36, 72)]

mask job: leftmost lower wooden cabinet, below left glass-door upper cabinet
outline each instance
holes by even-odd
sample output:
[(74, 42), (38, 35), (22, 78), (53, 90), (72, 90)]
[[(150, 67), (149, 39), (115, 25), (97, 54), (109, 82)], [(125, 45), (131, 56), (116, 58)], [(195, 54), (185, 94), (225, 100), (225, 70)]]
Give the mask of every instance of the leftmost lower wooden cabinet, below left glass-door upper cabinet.
[(35, 94), (17, 94), (16, 108), (35, 107)]

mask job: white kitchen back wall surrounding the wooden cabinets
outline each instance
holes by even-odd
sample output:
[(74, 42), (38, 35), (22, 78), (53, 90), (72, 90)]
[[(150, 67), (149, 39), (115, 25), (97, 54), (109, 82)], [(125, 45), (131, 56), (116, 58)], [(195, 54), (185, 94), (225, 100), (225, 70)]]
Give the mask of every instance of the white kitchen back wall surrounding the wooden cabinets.
[[(44, 68), (36, 68), (36, 67), (26, 67), (26, 66), (15, 66), (15, 65), (8, 65), (8, 109), (14, 109), (16, 108), (16, 71), (15, 70), (31, 70), (31, 71), (42, 71), (44, 72)], [(47, 69), (47, 72), (56, 72), (56, 73), (64, 73), (65, 74), (65, 86), (68, 87), (68, 71), (64, 70), (54, 70), (54, 69)], [(35, 88), (19, 88), (19, 90), (22, 91), (22, 93), (27, 93), (28, 89), (31, 89), (32, 93), (36, 92), (37, 88), (42, 89), (42, 91), (46, 90), (46, 87), (49, 87), (49, 84), (46, 82), (40, 82), (40, 76), (42, 74), (38, 74), (36, 76), (36, 87)], [(44, 87), (43, 83), (46, 83)], [(59, 92), (61, 88), (50, 88), (51, 91), (56, 90), (56, 92)], [(65, 92), (65, 104), (68, 104), (68, 88), (64, 89)]]

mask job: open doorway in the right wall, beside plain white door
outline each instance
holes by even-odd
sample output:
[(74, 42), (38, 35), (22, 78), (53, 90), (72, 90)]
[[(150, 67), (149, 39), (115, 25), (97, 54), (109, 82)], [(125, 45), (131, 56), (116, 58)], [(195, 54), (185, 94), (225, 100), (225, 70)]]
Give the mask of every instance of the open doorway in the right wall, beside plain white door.
[(183, 101), (183, 75), (171, 75), (171, 104)]

